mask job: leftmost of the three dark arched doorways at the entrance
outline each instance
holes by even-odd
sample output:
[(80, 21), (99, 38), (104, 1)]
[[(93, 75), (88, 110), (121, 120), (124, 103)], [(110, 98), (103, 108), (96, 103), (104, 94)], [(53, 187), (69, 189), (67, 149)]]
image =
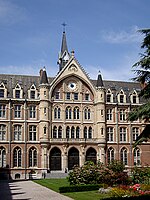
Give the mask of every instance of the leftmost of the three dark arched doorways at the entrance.
[(61, 170), (61, 151), (54, 147), (50, 152), (50, 170)]

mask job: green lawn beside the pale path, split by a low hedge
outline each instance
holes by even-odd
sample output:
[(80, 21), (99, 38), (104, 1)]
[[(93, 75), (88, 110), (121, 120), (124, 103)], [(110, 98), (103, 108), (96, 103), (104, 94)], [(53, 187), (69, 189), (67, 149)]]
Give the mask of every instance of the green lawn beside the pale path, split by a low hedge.
[[(69, 186), (67, 179), (40, 179), (34, 180), (34, 182), (43, 185), (47, 188), (50, 188), (56, 192), (59, 192), (59, 187), (61, 186)], [(74, 200), (100, 200), (106, 197), (110, 197), (106, 194), (99, 194), (98, 191), (89, 191), (89, 192), (71, 192), (71, 193), (63, 193), (68, 197), (71, 197)]]

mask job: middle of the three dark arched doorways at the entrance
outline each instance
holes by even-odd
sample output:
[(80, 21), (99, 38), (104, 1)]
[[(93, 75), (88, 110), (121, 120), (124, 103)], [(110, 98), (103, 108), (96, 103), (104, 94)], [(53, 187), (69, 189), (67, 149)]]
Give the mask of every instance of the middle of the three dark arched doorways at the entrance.
[(71, 170), (74, 165), (79, 165), (79, 151), (72, 147), (68, 152), (68, 170)]

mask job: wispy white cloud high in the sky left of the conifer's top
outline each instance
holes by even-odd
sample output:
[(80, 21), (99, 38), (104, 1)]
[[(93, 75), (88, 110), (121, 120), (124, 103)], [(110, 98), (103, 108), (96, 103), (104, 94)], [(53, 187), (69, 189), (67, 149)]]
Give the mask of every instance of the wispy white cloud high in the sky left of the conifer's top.
[(108, 43), (134, 43), (141, 42), (142, 36), (138, 32), (140, 28), (132, 27), (129, 31), (102, 31), (102, 39)]

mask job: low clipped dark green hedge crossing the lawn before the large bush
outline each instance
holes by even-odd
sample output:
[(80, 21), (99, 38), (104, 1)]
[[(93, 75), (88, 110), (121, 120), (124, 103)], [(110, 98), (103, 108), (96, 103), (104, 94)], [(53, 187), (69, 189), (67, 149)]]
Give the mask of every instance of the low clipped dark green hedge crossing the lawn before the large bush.
[(94, 184), (94, 185), (71, 185), (71, 186), (64, 186), (59, 187), (60, 193), (66, 193), (66, 192), (81, 192), (81, 191), (91, 191), (91, 190), (98, 190), (100, 188), (100, 185)]

